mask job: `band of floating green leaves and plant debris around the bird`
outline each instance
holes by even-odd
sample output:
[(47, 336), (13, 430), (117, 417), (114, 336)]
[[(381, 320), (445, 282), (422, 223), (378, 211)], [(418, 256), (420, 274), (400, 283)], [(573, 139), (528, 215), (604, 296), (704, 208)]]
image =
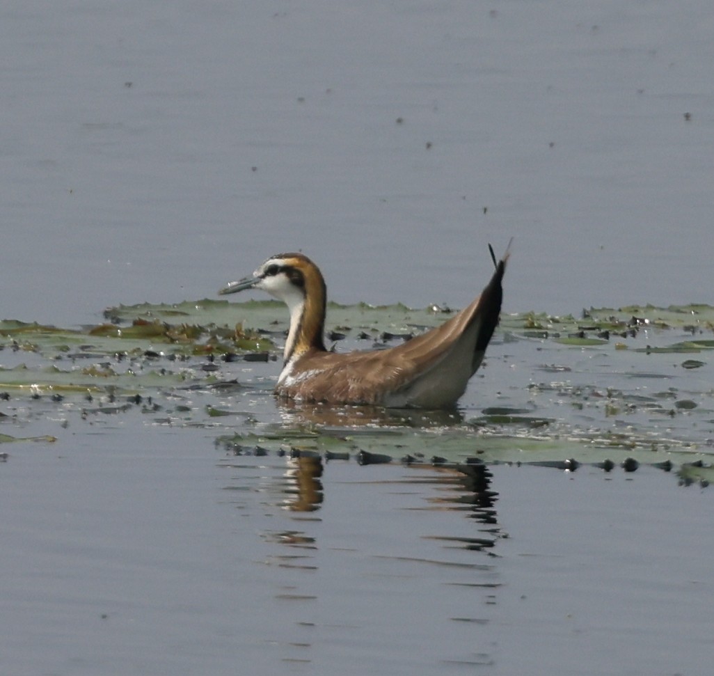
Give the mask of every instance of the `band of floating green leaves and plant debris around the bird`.
[[(326, 340), (341, 351), (391, 347), (451, 312), (333, 303)], [(118, 415), (215, 430), (228, 453), (605, 467), (630, 459), (708, 481), (714, 307), (503, 314), (456, 412), (278, 404), (271, 390), (287, 328), (281, 303), (213, 299), (111, 307), (102, 322), (72, 329), (3, 320), (0, 424), (23, 429), (0, 442), (47, 440)], [(58, 429), (34, 435), (40, 419)]]

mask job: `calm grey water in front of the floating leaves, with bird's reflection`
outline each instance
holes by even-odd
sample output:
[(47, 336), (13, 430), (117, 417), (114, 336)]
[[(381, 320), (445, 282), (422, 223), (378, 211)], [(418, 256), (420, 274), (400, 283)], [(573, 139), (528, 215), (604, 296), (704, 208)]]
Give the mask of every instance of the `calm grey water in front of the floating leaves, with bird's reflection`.
[(466, 482), (85, 424), (1, 468), (8, 673), (705, 672), (711, 497), (670, 474)]

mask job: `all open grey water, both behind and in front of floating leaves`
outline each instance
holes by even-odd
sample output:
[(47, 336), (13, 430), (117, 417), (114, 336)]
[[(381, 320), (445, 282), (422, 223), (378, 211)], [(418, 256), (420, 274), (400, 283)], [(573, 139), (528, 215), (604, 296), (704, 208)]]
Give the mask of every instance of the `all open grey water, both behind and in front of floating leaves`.
[[(291, 249), (341, 302), (463, 306), (512, 236), (506, 311), (711, 302), (713, 34), (703, 0), (6, 1), (0, 315), (212, 297)], [(706, 672), (711, 489), (316, 477), (26, 410), (1, 431), (58, 440), (2, 447), (3, 672)]]

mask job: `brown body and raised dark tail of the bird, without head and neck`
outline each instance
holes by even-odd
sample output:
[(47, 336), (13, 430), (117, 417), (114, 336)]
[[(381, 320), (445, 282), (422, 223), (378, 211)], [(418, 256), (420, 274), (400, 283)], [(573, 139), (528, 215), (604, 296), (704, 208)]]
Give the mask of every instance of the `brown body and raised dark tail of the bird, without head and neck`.
[(498, 262), (481, 296), (440, 327), (386, 350), (349, 354), (311, 350), (299, 361), (306, 377), (296, 374), (278, 387), (278, 394), (329, 403), (453, 406), (480, 366), (498, 324), (507, 259), (508, 254)]

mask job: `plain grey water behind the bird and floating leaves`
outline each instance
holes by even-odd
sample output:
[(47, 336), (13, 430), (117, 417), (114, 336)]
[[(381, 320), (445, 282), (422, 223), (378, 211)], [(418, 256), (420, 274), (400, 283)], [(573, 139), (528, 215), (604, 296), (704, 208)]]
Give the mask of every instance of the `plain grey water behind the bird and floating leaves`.
[(292, 249), (341, 302), (463, 306), (512, 236), (513, 311), (708, 299), (703, 0), (0, 18), (4, 317), (212, 296)]

